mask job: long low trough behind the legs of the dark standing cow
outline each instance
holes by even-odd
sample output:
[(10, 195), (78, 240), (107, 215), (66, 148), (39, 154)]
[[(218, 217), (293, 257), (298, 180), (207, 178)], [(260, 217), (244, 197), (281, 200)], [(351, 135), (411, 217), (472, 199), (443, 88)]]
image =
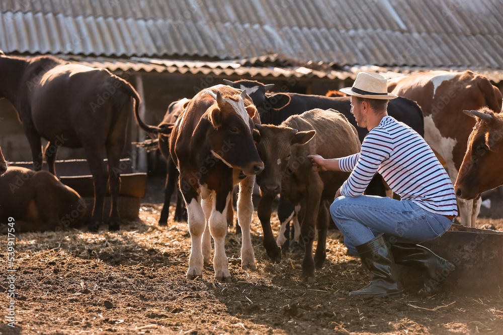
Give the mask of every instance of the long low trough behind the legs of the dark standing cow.
[[(10, 162), (10, 166), (33, 168), (33, 162)], [(73, 188), (86, 200), (89, 208), (93, 208), (94, 186), (89, 164), (85, 159), (56, 161), (56, 174), (59, 180)], [(145, 196), (147, 174), (133, 173), (130, 159), (121, 159), (121, 187), (119, 190), (118, 207), (121, 219), (134, 220), (138, 217), (140, 198)], [(47, 164), (43, 165), (47, 170)], [(110, 193), (107, 187), (104, 212), (110, 212)]]

